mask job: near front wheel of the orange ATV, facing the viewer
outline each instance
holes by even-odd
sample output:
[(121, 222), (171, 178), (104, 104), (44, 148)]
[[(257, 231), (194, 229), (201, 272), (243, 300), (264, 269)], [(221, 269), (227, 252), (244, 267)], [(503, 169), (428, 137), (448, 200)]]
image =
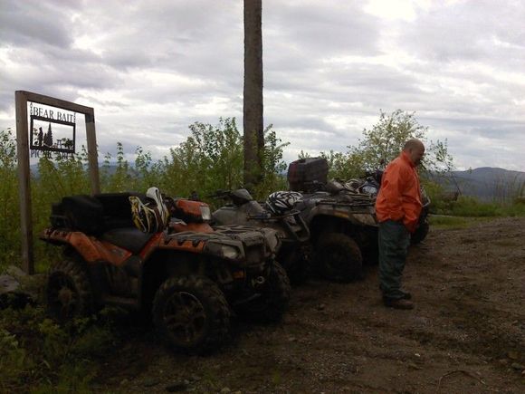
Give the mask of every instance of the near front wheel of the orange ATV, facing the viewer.
[(224, 293), (202, 276), (167, 279), (157, 290), (152, 314), (160, 335), (181, 351), (210, 351), (224, 341), (230, 328)]

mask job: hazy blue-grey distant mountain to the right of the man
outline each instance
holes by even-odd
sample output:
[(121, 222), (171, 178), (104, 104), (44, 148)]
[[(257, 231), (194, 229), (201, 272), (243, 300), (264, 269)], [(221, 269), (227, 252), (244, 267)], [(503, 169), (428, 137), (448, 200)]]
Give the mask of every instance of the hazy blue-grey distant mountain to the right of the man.
[(468, 171), (453, 171), (433, 180), (445, 190), (483, 201), (504, 201), (525, 196), (525, 172), (503, 168), (482, 167)]

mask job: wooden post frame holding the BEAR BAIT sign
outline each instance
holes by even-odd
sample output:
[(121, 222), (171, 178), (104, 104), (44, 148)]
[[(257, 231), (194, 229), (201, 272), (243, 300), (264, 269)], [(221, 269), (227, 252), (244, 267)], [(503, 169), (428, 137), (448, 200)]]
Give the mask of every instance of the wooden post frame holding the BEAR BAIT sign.
[[(95, 113), (91, 107), (63, 101), (31, 91), (15, 91), (16, 106), (16, 148), (18, 159), (18, 180), (20, 196), (20, 231), (22, 234), (22, 268), (26, 274), (34, 274), (33, 261), (33, 220), (31, 207), (31, 185), (29, 168), (29, 128), (27, 124), (27, 103), (43, 104), (56, 109), (72, 111), (84, 115), (86, 121), (86, 139), (88, 144), (88, 160), (91, 178), (91, 193), (100, 193), (99, 161), (97, 155), (97, 137), (95, 133)], [(32, 113), (33, 117), (33, 113)], [(51, 116), (52, 118), (52, 116)], [(50, 118), (50, 119), (51, 119)], [(57, 120), (62, 122), (62, 120)], [(33, 130), (31, 130), (33, 133)], [(39, 142), (43, 145), (43, 142)], [(52, 148), (48, 150), (60, 150)], [(33, 139), (32, 139), (33, 148)], [(74, 149), (74, 148), (73, 148)], [(62, 149), (63, 150), (63, 149)], [(74, 150), (73, 150), (74, 152)]]

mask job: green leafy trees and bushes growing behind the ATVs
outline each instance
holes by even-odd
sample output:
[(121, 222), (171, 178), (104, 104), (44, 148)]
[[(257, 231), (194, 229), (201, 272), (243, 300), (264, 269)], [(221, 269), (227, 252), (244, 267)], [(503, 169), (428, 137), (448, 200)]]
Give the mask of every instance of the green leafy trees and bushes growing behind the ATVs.
[[(169, 154), (154, 160), (148, 151), (136, 149), (130, 163), (124, 146), (117, 144), (116, 156), (104, 156), (100, 167), (102, 192), (146, 191), (157, 186), (173, 197), (189, 197), (194, 191), (209, 203), (209, 196), (218, 189), (243, 187), (243, 136), (237, 130), (235, 119), (220, 119), (212, 126), (196, 122), (189, 127), (191, 134)], [(428, 141), (428, 129), (421, 126), (414, 113), (380, 112), (377, 124), (363, 130), (358, 145), (348, 146), (345, 153), (320, 152), (329, 162), (329, 178), (359, 178), (367, 170), (380, 168), (381, 162), (394, 159), (406, 139), (418, 138), (425, 142), (426, 153), (421, 176), (433, 201), (434, 213), (465, 216), (525, 215), (525, 204), (502, 207), (501, 204), (482, 204), (475, 199), (460, 197), (451, 201), (444, 187), (435, 182), (436, 174), (453, 170), (453, 157), (445, 141)], [(283, 148), (288, 142), (277, 138), (269, 126), (264, 131), (262, 183), (250, 190), (254, 197), (265, 198), (269, 193), (287, 188), (287, 164), (282, 160)], [(308, 156), (301, 152), (300, 157)], [(49, 225), (52, 203), (62, 197), (89, 194), (88, 155), (84, 147), (80, 153), (64, 158), (59, 155), (41, 157), (38, 171), (32, 174), (33, 238), (37, 270), (45, 269), (58, 248), (48, 248), (37, 237)], [(427, 177), (432, 173), (433, 178)], [(0, 272), (5, 265), (18, 264), (21, 248), (20, 212), (16, 141), (11, 130), (0, 131)]]

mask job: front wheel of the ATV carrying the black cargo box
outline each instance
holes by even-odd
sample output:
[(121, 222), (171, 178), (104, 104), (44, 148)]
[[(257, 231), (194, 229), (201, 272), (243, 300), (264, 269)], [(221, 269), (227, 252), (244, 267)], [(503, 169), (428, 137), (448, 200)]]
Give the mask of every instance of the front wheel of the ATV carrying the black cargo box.
[(316, 248), (316, 266), (329, 281), (348, 283), (363, 274), (363, 257), (358, 244), (348, 235), (321, 236)]

